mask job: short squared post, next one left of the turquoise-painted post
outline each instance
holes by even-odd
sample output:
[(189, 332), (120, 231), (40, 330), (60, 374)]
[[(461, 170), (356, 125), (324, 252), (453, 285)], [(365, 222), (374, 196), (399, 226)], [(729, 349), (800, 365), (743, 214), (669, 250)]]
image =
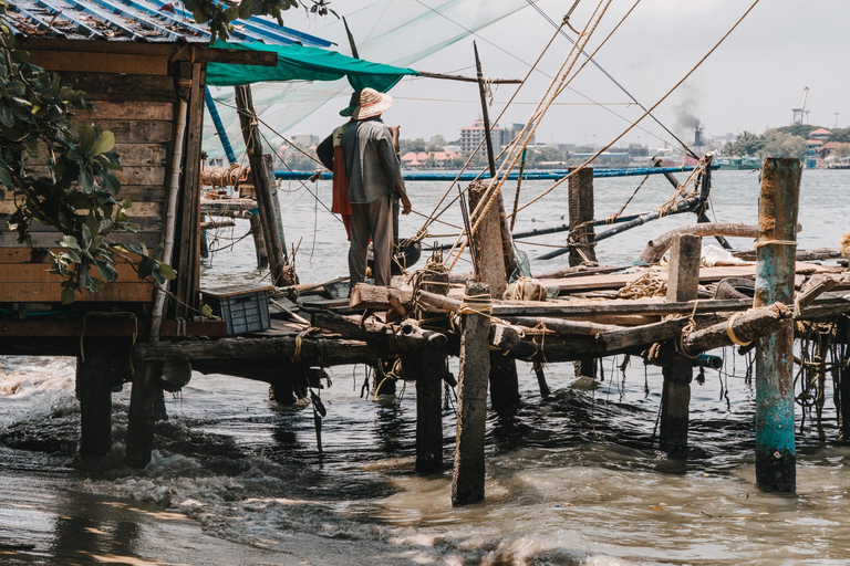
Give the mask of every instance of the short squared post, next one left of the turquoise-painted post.
[[(702, 239), (693, 234), (673, 237), (670, 248), (667, 301), (694, 301), (699, 290)], [(671, 458), (687, 455), (687, 420), (691, 403), (692, 360), (676, 361), (662, 369), (661, 430), (659, 447)]]

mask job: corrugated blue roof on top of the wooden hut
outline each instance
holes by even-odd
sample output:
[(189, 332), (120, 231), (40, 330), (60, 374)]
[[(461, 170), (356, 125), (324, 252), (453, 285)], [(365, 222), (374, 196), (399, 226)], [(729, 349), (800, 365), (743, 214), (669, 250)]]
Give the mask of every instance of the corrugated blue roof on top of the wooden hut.
[[(157, 43), (208, 43), (210, 39), (179, 0), (10, 0), (3, 20), (15, 34), (25, 36)], [(256, 15), (237, 22), (230, 41), (332, 45)]]

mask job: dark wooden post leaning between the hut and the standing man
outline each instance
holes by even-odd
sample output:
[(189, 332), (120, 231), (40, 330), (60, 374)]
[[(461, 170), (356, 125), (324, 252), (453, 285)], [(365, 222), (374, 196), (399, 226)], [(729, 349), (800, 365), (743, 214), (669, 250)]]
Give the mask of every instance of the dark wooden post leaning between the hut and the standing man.
[(236, 87), (236, 105), (239, 112), (239, 122), (242, 126), (242, 136), (245, 137), (248, 160), (251, 164), (253, 190), (257, 196), (257, 209), (259, 211), (260, 223), (262, 224), (266, 251), (269, 255), (271, 281), (276, 285), (282, 286), (283, 268), (287, 264), (287, 254), (282, 244), (281, 234), (278, 230), (278, 220), (276, 218), (277, 214), (271, 191), (273, 179), (269, 179), (266, 160), (262, 156), (262, 143), (260, 142), (259, 128), (253, 119), (256, 117), (256, 111), (253, 108), (251, 87), (249, 85)]

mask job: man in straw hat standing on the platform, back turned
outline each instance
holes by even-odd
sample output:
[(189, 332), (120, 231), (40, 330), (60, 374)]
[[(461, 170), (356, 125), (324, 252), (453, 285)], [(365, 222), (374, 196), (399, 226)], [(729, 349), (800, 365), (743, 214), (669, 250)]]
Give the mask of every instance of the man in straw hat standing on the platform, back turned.
[(366, 275), (366, 252), (372, 239), (375, 285), (390, 285), (393, 255), (393, 196), (402, 199), (402, 213), (410, 214), (411, 201), (404, 189), (402, 169), (393, 138), (381, 114), (393, 105), (393, 97), (373, 88), (360, 93), (354, 123), (342, 136), (345, 176), (351, 200), (350, 285)]

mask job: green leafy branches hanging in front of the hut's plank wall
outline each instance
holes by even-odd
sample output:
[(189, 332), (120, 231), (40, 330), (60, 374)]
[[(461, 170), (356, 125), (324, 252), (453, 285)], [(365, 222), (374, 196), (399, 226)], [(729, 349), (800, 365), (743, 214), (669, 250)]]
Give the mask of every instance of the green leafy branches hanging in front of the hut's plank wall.
[[(0, 13), (6, 8), (0, 0)], [(32, 245), (33, 222), (63, 234), (65, 251), (51, 252), (51, 271), (64, 279), (65, 303), (80, 290), (96, 292), (115, 281), (110, 235), (137, 229), (126, 213), (129, 200), (113, 198), (120, 186), (113, 171), (121, 170), (112, 151), (115, 137), (95, 126), (71, 126), (73, 111), (92, 107), (84, 93), (30, 64), (29, 53), (15, 50), (14, 35), (0, 24), (0, 199), (14, 202), (0, 221), (17, 232), (19, 243)], [(174, 279), (170, 266), (141, 255), (146, 275)]]

